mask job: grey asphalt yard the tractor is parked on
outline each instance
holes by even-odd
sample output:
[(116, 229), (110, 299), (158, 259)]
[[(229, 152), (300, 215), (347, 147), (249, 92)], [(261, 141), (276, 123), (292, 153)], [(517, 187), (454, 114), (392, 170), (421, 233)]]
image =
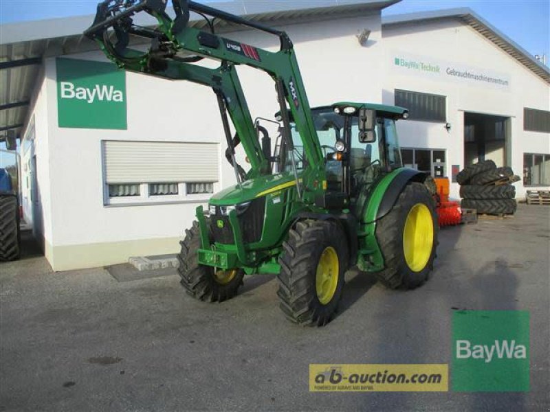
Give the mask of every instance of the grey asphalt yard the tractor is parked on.
[[(0, 411), (547, 411), (550, 208), (444, 228), (432, 279), (386, 290), (347, 274), (338, 317), (283, 317), (273, 276), (222, 304), (175, 272), (119, 282), (53, 273), (25, 237), (0, 264)], [(453, 310), (528, 310), (528, 392), (309, 392), (310, 363), (451, 363)], [(451, 388), (450, 388), (451, 389)]]

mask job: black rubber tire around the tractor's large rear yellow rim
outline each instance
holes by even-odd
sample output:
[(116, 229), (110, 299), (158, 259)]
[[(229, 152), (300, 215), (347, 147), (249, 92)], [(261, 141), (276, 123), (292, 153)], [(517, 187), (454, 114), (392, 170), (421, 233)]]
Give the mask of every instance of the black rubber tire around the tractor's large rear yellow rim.
[[(428, 207), (433, 225), (433, 244), (430, 257), (419, 271), (412, 271), (408, 266), (404, 252), (404, 229), (409, 211), (417, 204)], [(439, 225), (434, 204), (428, 190), (421, 183), (409, 183), (399, 195), (391, 211), (376, 225), (376, 239), (380, 245), (386, 268), (376, 273), (377, 279), (384, 286), (397, 289), (417, 288), (430, 275), (433, 261), (436, 258), (437, 233)]]

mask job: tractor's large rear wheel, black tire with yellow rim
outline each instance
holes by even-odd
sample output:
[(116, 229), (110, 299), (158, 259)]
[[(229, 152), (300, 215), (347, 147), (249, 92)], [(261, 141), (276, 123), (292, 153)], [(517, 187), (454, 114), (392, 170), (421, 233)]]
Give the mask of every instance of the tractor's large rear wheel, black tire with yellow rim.
[(376, 274), (388, 288), (416, 288), (426, 282), (437, 248), (437, 215), (428, 190), (409, 183), (393, 209), (376, 225), (386, 268)]

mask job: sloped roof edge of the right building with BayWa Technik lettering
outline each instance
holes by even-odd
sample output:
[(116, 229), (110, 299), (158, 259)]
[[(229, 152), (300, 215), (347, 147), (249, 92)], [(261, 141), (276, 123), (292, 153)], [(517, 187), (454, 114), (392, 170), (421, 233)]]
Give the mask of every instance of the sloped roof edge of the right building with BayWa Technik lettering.
[(531, 56), (527, 50), (518, 45), (500, 32), (494, 25), (483, 19), (479, 14), (476, 14), (470, 8), (453, 8), (448, 10), (436, 10), (433, 12), (419, 12), (408, 14), (397, 14), (395, 16), (382, 17), (382, 28), (393, 27), (404, 24), (421, 24), (435, 20), (458, 19), (459, 21), (469, 25), (483, 37), (494, 43), (497, 47), (509, 54), (511, 58), (517, 60), (521, 65), (524, 65), (542, 78), (547, 83), (550, 83), (550, 69), (543, 65), (534, 56)]

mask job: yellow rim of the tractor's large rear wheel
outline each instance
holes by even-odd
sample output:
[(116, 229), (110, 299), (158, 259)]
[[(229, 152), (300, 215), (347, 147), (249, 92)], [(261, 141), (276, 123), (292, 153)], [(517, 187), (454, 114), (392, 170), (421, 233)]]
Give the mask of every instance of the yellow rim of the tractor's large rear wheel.
[(403, 230), (403, 252), (408, 267), (419, 272), (428, 264), (434, 244), (434, 222), (428, 206), (417, 203), (409, 211)]

